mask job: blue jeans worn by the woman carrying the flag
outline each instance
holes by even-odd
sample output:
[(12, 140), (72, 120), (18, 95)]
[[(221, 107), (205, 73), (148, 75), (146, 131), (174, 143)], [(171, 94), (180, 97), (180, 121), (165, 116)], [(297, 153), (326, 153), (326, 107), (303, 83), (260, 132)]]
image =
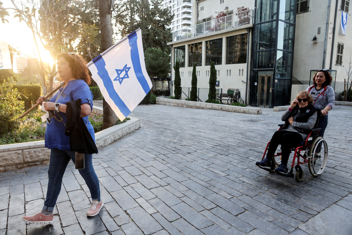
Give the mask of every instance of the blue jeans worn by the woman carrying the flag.
[[(46, 191), (43, 210), (54, 210), (57, 197), (61, 190), (62, 177), (70, 159), (75, 163), (74, 151), (51, 149), (48, 168), (48, 190)], [(95, 174), (92, 159), (92, 154), (84, 154), (84, 169), (79, 169), (78, 172), (80, 172), (84, 181), (86, 181), (92, 200), (100, 202), (99, 180)]]

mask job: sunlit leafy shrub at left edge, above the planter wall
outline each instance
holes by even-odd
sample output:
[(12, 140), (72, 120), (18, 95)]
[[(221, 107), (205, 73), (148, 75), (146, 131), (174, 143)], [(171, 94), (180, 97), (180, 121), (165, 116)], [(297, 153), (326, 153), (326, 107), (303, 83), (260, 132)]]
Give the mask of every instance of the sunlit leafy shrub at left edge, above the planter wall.
[(0, 84), (0, 137), (19, 129), (23, 103), (21, 94), (13, 88), (13, 84)]

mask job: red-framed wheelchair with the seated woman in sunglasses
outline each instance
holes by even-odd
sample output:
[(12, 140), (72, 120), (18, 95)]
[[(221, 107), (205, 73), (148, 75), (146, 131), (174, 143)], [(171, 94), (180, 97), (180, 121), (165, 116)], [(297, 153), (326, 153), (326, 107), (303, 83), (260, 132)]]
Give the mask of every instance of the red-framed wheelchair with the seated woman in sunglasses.
[[(284, 124), (279, 124), (279, 126), (279, 130), (281, 130)], [(312, 174), (314, 177), (323, 173), (328, 158), (328, 146), (324, 138), (319, 136), (320, 130), (321, 128), (310, 130), (310, 133), (306, 140), (302, 141), (299, 146), (291, 148), (291, 152), (294, 151), (291, 171), (288, 174), (282, 174), (280, 172), (277, 172), (278, 175), (295, 178), (297, 182), (300, 182), (303, 179), (304, 174), (301, 165), (306, 163), (308, 163), (310, 174)], [(269, 143), (270, 141), (268, 142), (268, 144), (266, 144), (262, 160), (266, 155)], [(271, 169), (267, 171), (275, 171), (276, 165), (279, 166), (281, 164), (280, 156), (281, 152), (278, 152), (272, 157), (275, 164), (272, 164)], [(297, 164), (295, 166), (296, 159)], [(294, 167), (296, 170), (295, 175), (293, 174)]]

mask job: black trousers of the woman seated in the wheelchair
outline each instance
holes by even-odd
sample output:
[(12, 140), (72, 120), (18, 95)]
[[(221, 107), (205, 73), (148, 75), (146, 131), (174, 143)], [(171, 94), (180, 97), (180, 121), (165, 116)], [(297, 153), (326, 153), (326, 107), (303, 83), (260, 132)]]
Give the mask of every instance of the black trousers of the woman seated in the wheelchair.
[(301, 141), (303, 141), (303, 138), (298, 132), (287, 130), (275, 131), (271, 137), (266, 158), (272, 159), (277, 146), (281, 144), (281, 162), (287, 166), (291, 148), (297, 147)]

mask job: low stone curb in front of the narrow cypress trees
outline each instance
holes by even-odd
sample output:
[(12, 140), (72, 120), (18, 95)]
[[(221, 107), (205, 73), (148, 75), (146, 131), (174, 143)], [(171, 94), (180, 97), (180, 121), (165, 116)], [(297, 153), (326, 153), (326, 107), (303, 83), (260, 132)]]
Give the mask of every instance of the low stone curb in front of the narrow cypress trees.
[(259, 108), (252, 107), (240, 107), (224, 104), (210, 104), (196, 101), (188, 100), (175, 100), (169, 98), (156, 98), (156, 103), (161, 105), (177, 106), (184, 108), (193, 108), (193, 109), (211, 109), (211, 110), (220, 110), (227, 112), (236, 112), (236, 113), (248, 113), (248, 114), (262, 114), (262, 110)]

